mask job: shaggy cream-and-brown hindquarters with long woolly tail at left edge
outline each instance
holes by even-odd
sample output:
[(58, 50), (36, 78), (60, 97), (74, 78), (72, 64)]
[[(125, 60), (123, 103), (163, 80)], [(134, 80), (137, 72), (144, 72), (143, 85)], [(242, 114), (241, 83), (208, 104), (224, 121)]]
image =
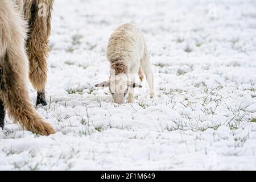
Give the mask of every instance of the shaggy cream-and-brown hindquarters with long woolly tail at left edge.
[(4, 126), (5, 109), (10, 118), (34, 133), (54, 134), (52, 126), (44, 122), (30, 102), (26, 81), (27, 23), (14, 1), (0, 1), (0, 127)]

